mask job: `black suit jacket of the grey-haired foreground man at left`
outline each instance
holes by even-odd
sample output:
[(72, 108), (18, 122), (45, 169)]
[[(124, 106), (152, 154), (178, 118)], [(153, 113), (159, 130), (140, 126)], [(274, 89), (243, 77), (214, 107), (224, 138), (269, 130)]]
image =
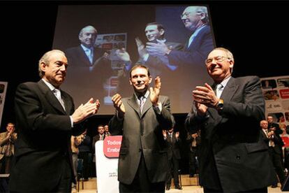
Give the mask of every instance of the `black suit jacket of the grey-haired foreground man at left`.
[(81, 131), (77, 132), (80, 128), (76, 125), (71, 128), (69, 115), (74, 111), (73, 99), (62, 90), (61, 96), (66, 111), (43, 80), (17, 87), (18, 138), (15, 164), (10, 173), (10, 191), (51, 192), (59, 183), (64, 159), (72, 163), (71, 134)]

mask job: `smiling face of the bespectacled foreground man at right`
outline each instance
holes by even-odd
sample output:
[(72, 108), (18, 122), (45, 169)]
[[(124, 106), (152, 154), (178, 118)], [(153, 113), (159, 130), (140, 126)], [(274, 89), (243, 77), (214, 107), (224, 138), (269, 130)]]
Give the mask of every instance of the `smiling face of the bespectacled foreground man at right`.
[(231, 75), (233, 65), (234, 62), (228, 59), (228, 55), (223, 50), (213, 50), (207, 57), (207, 72), (217, 82)]

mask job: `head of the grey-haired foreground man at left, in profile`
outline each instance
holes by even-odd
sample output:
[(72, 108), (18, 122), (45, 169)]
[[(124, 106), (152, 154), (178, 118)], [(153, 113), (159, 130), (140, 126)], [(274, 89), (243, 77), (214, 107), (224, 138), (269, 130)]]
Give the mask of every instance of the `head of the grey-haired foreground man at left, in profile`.
[(40, 78), (44, 78), (47, 82), (57, 88), (66, 78), (67, 67), (68, 63), (66, 56), (61, 50), (46, 52), (38, 63)]

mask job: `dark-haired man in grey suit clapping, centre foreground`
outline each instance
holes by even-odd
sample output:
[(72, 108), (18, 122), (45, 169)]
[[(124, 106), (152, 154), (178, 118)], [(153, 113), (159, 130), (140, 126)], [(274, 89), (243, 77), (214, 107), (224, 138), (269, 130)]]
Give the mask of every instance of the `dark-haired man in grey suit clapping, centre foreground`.
[(123, 131), (119, 152), (119, 192), (165, 192), (167, 151), (162, 129), (172, 127), (170, 99), (160, 96), (161, 79), (151, 76), (147, 66), (137, 64), (130, 71), (135, 93), (121, 99), (112, 96), (116, 114), (110, 120), (112, 134)]

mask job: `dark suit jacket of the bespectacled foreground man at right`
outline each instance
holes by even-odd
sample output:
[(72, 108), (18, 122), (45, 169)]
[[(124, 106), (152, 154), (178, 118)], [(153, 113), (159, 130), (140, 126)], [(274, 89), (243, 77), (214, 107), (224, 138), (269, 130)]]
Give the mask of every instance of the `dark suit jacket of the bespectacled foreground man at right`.
[(230, 78), (221, 99), (223, 110), (208, 108), (197, 115), (195, 106), (186, 125), (191, 133), (201, 129), (200, 183), (224, 192), (267, 187), (276, 182), (268, 147), (260, 134), (265, 101), (256, 76)]

